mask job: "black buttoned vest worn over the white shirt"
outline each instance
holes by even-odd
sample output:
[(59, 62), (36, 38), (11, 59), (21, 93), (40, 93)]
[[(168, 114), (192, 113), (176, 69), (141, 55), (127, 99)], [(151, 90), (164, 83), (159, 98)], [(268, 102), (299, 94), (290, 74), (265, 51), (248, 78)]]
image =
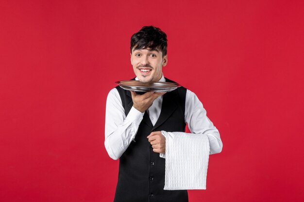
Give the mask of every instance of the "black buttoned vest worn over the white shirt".
[[(174, 82), (166, 78), (168, 82)], [(133, 106), (131, 93), (117, 87), (125, 114)], [(118, 184), (114, 202), (188, 202), (187, 190), (164, 190), (165, 159), (152, 150), (147, 139), (153, 131), (185, 132), (186, 88), (163, 96), (160, 116), (153, 126), (147, 111), (135, 140), (119, 158)]]

